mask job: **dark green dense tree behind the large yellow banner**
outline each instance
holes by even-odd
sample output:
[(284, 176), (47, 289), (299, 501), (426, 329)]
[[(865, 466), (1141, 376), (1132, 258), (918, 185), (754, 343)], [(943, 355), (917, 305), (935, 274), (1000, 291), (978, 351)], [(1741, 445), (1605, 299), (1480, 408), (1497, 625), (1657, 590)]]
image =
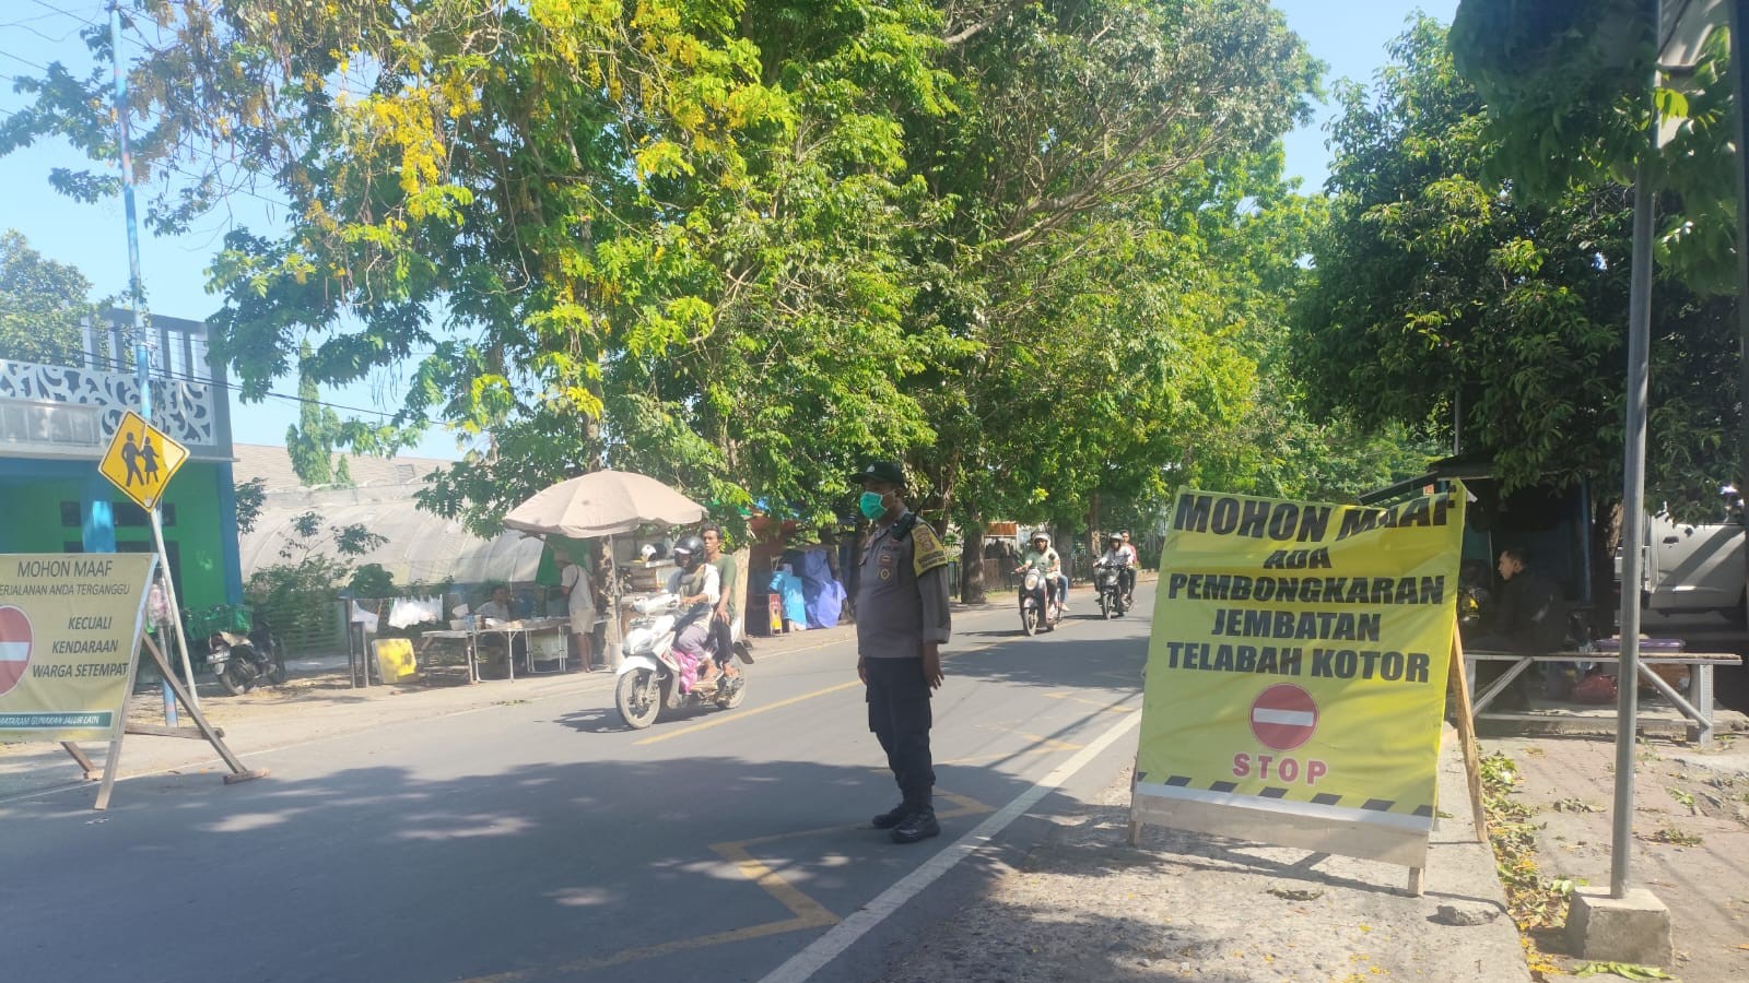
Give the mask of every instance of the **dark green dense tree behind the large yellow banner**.
[[(1334, 124), (1331, 224), (1296, 360), (1313, 406), (1488, 453), (1508, 486), (1618, 481), (1630, 192), (1551, 199), (1488, 180), (1497, 145), (1445, 31), (1417, 21)], [(1649, 467), (1691, 497), (1726, 467), (1732, 334), (1718, 301), (1658, 285)], [(1728, 472), (1728, 471), (1726, 471)]]

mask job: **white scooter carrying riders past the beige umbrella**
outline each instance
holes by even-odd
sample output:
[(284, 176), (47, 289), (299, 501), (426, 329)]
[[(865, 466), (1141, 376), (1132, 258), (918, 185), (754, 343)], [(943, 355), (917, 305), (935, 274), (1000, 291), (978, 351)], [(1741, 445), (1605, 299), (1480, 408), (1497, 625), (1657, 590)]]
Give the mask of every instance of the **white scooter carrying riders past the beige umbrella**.
[[(747, 696), (747, 672), (735, 679), (721, 673), (707, 682), (693, 684), (693, 689), (680, 693), (680, 663), (673, 654), (673, 637), (680, 624), (680, 598), (672, 593), (659, 593), (631, 603), (638, 614), (626, 630), (621, 645), (619, 682), (614, 686), (614, 703), (619, 717), (628, 728), (640, 731), (656, 722), (663, 708), (679, 710), (682, 707), (703, 707), (715, 703), (724, 710), (742, 705)], [(707, 614), (708, 617), (708, 614)], [(707, 656), (714, 656), (707, 649)], [(752, 663), (747, 644), (735, 642), (735, 656), (742, 663)]]

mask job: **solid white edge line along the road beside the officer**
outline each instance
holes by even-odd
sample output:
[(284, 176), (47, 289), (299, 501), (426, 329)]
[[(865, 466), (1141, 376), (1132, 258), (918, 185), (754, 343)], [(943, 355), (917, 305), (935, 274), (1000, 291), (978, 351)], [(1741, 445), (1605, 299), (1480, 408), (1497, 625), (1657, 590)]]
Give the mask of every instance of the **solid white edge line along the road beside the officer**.
[(1039, 805), (1039, 799), (1056, 791), (1063, 782), (1074, 777), (1076, 771), (1086, 768), (1088, 763), (1100, 756), (1100, 752), (1135, 729), (1140, 722), (1140, 714), (1130, 714), (1123, 721), (1118, 721), (1118, 724), (1114, 724), (1109, 731), (1102, 733), (1093, 740), (1093, 743), (1076, 752), (1076, 756), (1069, 761), (1058, 764), (1055, 771), (1041, 778), (1034, 787), (1014, 796), (1014, 801), (997, 810), (990, 815), (990, 819), (979, 822), (976, 829), (955, 840), (946, 850), (936, 854), (925, 861), (923, 866), (901, 878), (899, 883), (880, 892), (874, 901), (869, 901), (854, 915), (833, 925), (824, 936), (813, 939), (808, 948), (789, 957), (784, 966), (773, 969), (759, 983), (803, 983), (805, 980), (813, 978), (815, 973), (843, 955), (845, 950), (857, 943), (857, 939), (892, 917), (892, 913), (902, 908), (906, 901), (922, 894), (925, 887), (941, 880), (941, 875), (948, 873), (960, 861), (971, 857), (986, 843), (995, 840), (995, 836), (1007, 829), (1011, 822), (1025, 815), (1032, 806)]

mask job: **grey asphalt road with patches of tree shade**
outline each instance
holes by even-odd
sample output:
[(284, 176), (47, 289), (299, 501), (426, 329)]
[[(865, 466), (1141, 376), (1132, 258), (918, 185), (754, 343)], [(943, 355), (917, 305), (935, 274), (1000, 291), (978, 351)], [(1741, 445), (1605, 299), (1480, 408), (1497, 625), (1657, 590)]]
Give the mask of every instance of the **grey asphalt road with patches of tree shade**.
[[(1098, 621), (1084, 598), (1037, 638), (1006, 609), (957, 619), (939, 840), (868, 826), (897, 792), (836, 642), (761, 659), (738, 710), (647, 731), (603, 691), (507, 700), (255, 754), (261, 782), (0, 805), (0, 980), (878, 980), (1133, 754), (1146, 614)], [(1062, 789), (1020, 810), (1046, 778)], [(992, 843), (955, 848), (1016, 799)], [(894, 887), (932, 857), (962, 862)]]

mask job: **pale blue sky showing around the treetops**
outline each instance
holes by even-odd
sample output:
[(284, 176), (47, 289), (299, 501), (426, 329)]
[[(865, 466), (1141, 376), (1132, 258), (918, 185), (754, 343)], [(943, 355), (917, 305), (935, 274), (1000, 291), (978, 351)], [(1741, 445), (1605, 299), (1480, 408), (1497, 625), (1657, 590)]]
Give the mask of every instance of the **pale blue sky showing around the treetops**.
[[(1287, 16), (1287, 26), (1307, 40), (1312, 54), (1327, 65), (1329, 79), (1371, 79), (1385, 61), (1385, 44), (1403, 31), (1406, 17), (1420, 9), (1450, 21), (1457, 0), (1275, 0)], [(0, 114), (23, 105), (12, 93), (12, 75), (38, 73), (40, 65), (61, 59), (70, 68), (89, 65), (79, 42), (80, 21), (105, 23), (103, 0), (7, 0), (0, 5)], [(1329, 152), (1324, 124), (1331, 108), (1319, 107), (1312, 124), (1287, 138), (1287, 170), (1315, 191), (1327, 177)], [(0, 229), (16, 227), (44, 255), (72, 262), (91, 278), (100, 296), (124, 294), (128, 287), (128, 247), (121, 201), (77, 205), (47, 185), (51, 168), (84, 166), (65, 145), (37, 145), (0, 157)], [(219, 306), (205, 290), (205, 268), (224, 233), (236, 226), (271, 227), (280, 210), (254, 198), (236, 198), (227, 213), (208, 217), (201, 227), (173, 240), (150, 238), (142, 231), (140, 273), (150, 310), (187, 318), (201, 318)], [(280, 380), (278, 394), (294, 394), (296, 380)], [(352, 387), (324, 390), (322, 399), (355, 409), (387, 413), (401, 401), (401, 380), (385, 373)], [(345, 415), (345, 413), (343, 413)], [(259, 404), (231, 406), (233, 432), (240, 443), (282, 444), (287, 425), (297, 420), (297, 404), (268, 399)], [(434, 432), (413, 451), (423, 457), (455, 458), (458, 444), (451, 434)]]

